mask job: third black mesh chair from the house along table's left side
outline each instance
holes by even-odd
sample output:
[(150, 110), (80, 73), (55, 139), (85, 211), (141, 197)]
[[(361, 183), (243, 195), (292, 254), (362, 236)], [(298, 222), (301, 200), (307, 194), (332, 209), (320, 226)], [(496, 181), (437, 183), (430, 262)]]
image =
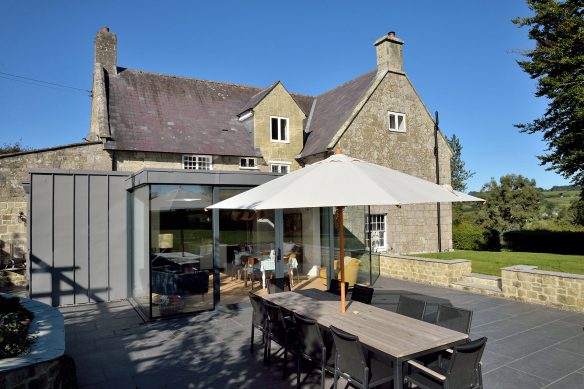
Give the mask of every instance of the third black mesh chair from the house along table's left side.
[(326, 337), (323, 336), (316, 320), (294, 313), (294, 322), (300, 335), (296, 354), (298, 359), (296, 386), (300, 388), (301, 363), (308, 361), (313, 367), (320, 369), (320, 387), (324, 388), (326, 372), (335, 373), (333, 344), (324, 340)]

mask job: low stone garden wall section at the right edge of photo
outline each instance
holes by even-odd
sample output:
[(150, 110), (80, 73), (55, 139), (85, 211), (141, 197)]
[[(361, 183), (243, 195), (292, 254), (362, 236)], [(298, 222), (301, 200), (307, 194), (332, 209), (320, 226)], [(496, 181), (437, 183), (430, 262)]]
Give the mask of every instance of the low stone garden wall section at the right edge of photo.
[(501, 282), (505, 297), (573, 311), (584, 310), (584, 275), (511, 266), (501, 269)]

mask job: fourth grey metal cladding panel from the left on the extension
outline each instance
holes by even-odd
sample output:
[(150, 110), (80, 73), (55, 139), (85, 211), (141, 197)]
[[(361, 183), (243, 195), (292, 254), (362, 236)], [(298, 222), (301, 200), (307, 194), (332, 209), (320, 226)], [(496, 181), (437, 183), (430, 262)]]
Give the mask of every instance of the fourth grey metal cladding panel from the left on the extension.
[(108, 301), (108, 177), (89, 177), (89, 298)]

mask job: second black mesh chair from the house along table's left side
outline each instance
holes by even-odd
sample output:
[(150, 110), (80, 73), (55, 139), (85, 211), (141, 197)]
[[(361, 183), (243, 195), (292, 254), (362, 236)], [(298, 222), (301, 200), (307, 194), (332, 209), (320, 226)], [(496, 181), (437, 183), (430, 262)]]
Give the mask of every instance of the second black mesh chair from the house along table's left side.
[(286, 378), (288, 375), (288, 352), (296, 352), (297, 348), (296, 326), (290, 317), (286, 318), (284, 316), (280, 306), (266, 300), (264, 301), (264, 307), (268, 317), (264, 360), (268, 364), (270, 363), (272, 341), (278, 343), (284, 350), (283, 378)]

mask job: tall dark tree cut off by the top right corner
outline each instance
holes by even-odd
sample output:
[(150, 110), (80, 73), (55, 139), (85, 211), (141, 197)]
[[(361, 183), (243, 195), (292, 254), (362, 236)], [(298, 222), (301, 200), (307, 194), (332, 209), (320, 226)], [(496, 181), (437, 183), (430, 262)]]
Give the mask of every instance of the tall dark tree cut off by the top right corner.
[(516, 125), (522, 132), (542, 133), (547, 153), (539, 156), (583, 189), (584, 198), (584, 2), (527, 0), (532, 17), (513, 23), (529, 27), (535, 49), (519, 66), (537, 80), (537, 97), (548, 107), (541, 118)]

